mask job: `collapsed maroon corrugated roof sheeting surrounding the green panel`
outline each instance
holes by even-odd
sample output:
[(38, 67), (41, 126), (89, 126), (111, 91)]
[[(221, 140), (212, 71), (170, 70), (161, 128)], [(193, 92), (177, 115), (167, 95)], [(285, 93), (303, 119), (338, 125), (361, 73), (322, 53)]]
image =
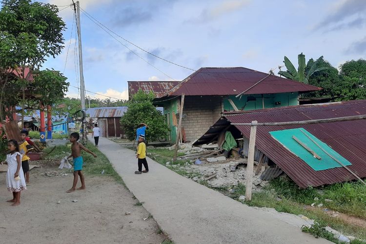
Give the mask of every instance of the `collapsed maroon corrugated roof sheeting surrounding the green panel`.
[[(258, 122), (287, 122), (363, 114), (366, 114), (366, 100), (253, 110), (240, 114), (224, 114), (224, 118), (232, 123), (245, 123), (254, 120)], [(223, 123), (222, 119), (220, 123)], [(235, 127), (246, 138), (249, 138), (250, 126), (235, 125)], [(343, 167), (321, 171), (313, 170), (269, 134), (270, 131), (300, 127), (305, 128), (352, 163), (352, 165), (347, 167), (359, 177), (366, 177), (366, 120), (304, 125), (258, 126), (256, 146), (281, 167), (300, 187), (319, 186), (355, 179)], [(203, 139), (199, 140), (197, 144), (210, 141), (210, 138), (207, 137)]]

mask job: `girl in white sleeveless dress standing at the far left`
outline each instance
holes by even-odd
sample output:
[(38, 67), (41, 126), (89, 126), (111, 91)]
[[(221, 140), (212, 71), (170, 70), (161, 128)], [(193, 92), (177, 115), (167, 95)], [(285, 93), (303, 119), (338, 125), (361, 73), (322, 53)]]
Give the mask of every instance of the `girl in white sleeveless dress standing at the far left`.
[(21, 168), (21, 153), (16, 140), (8, 142), (10, 153), (6, 155), (6, 163), (8, 164), (8, 172), (6, 174), (6, 185), (8, 191), (13, 192), (13, 199), (7, 202), (13, 203), (12, 206), (20, 204), (20, 191), (26, 190), (23, 169)]

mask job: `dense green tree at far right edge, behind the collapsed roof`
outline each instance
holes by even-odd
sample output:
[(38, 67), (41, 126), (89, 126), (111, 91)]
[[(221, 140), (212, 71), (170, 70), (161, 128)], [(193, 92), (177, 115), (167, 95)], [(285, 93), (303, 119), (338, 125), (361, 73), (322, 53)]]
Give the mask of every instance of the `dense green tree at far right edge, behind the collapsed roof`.
[(340, 66), (343, 100), (366, 99), (366, 60), (347, 61)]

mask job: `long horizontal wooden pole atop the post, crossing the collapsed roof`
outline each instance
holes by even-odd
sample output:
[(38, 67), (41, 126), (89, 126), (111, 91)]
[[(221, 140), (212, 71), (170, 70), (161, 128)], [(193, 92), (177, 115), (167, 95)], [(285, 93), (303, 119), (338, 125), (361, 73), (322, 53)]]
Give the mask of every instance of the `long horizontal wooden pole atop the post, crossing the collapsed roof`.
[[(299, 125), (299, 124), (329, 123), (329, 122), (341, 122), (341, 121), (357, 121), (357, 120), (365, 120), (365, 119), (366, 119), (366, 114), (356, 115), (356, 116), (330, 118), (330, 119), (309, 120), (309, 121), (265, 122), (265, 123), (258, 123), (257, 126), (262, 126), (262, 125)], [(231, 125), (251, 125), (251, 123), (232, 123)]]

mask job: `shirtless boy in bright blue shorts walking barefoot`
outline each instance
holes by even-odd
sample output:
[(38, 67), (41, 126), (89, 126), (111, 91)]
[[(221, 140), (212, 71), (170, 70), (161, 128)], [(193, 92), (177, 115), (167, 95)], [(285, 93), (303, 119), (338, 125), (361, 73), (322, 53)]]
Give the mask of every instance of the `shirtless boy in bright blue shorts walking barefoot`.
[(72, 184), (72, 187), (70, 190), (66, 191), (66, 192), (73, 192), (75, 191), (76, 188), (76, 184), (78, 183), (78, 175), (80, 176), (80, 181), (81, 181), (81, 187), (78, 188), (78, 190), (84, 190), (85, 189), (85, 182), (84, 182), (84, 176), (82, 175), (82, 157), (81, 157), (81, 149), (84, 150), (85, 152), (90, 153), (91, 155), (94, 156), (94, 158), (97, 157), (97, 155), (95, 155), (95, 153), (93, 153), (92, 151), (90, 151), (88, 148), (84, 147), (81, 143), (78, 142), (80, 136), (78, 132), (73, 132), (70, 134), (70, 142), (72, 143), (71, 145), (71, 155), (68, 158), (73, 157), (74, 160), (74, 183)]

